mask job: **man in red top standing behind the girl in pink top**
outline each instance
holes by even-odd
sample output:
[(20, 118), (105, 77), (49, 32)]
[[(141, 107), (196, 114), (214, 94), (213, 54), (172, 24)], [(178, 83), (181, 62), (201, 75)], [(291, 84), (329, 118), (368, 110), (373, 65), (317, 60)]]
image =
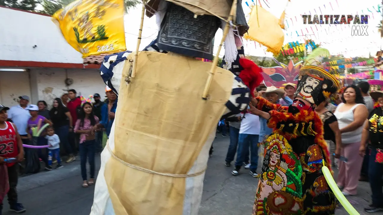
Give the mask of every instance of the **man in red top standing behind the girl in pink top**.
[[(70, 112), (70, 116), (72, 116), (72, 125), (69, 125), (69, 129), (70, 129), (69, 143), (72, 144), (72, 148), (73, 148), (74, 154), (75, 154), (75, 152), (79, 148), (80, 135), (75, 134), (73, 132), (73, 128), (74, 128), (74, 125), (77, 121), (77, 116), (78, 116), (80, 109), (81, 109), (81, 99), (77, 98), (77, 92), (74, 89), (68, 90), (68, 97), (70, 100), (67, 104), (67, 108)], [(74, 160), (76, 160), (76, 157), (73, 155), (73, 156), (69, 156), (69, 158), (65, 162), (70, 163)]]

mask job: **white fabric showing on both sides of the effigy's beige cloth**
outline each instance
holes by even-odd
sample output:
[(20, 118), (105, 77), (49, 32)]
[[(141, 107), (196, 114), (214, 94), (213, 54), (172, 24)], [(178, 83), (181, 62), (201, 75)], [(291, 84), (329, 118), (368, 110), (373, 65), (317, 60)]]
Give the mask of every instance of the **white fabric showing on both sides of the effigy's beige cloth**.
[[(116, 114), (118, 117), (118, 115)], [(193, 174), (206, 168), (209, 159), (209, 150), (211, 144), (216, 136), (216, 130), (209, 135), (205, 145), (202, 147), (200, 155), (198, 155), (193, 167), (187, 174)], [(110, 149), (115, 149), (115, 123), (113, 123), (108, 143)], [(92, 210), (90, 215), (115, 215), (112, 201), (109, 196), (108, 186), (105, 181), (105, 165), (108, 160), (111, 159), (111, 153), (108, 148), (104, 148), (101, 153), (101, 167), (98, 172), (97, 181), (95, 185), (95, 194), (93, 199)], [(201, 203), (202, 191), (203, 191), (203, 180), (205, 173), (195, 177), (186, 178), (185, 187), (185, 199), (183, 201), (183, 214), (182, 215), (198, 215), (198, 210)]]

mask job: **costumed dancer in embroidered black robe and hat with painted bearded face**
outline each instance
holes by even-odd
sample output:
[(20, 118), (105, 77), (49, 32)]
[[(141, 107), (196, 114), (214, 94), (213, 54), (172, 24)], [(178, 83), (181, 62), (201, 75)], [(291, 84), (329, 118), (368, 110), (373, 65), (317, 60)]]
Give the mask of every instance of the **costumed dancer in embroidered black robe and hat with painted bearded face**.
[(321, 171), (323, 164), (331, 169), (330, 155), (314, 109), (338, 88), (339, 81), (326, 70), (305, 66), (292, 105), (252, 99), (251, 112), (268, 119), (273, 128), (264, 141), (253, 215), (334, 214), (335, 196)]

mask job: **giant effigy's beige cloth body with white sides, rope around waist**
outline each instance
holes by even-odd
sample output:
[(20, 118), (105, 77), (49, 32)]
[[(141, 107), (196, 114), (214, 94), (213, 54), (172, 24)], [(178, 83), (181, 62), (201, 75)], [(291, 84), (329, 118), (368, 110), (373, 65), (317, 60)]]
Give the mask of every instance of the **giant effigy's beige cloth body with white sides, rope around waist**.
[(205, 101), (211, 63), (139, 52), (136, 75), (126, 84), (133, 56), (123, 70), (109, 139), (116, 158), (107, 147), (101, 155), (91, 215), (197, 215), (208, 150), (233, 74), (217, 68)]

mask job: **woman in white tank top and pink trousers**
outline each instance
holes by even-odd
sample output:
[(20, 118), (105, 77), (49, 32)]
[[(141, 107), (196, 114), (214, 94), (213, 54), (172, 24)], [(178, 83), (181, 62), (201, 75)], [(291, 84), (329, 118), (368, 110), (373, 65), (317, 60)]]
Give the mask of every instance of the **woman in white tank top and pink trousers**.
[(360, 169), (363, 157), (359, 155), (363, 123), (368, 117), (363, 96), (355, 85), (348, 86), (342, 102), (334, 112), (337, 117), (340, 133), (342, 134), (341, 156), (348, 159), (347, 163), (339, 162), (337, 185), (343, 189), (344, 195), (356, 195)]

